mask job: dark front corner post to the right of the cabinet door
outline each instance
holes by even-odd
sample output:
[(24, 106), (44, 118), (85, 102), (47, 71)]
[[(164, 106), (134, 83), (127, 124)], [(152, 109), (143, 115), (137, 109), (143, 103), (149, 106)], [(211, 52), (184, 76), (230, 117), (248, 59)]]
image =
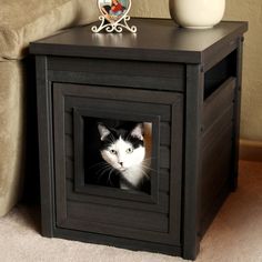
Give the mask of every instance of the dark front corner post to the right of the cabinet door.
[(204, 73), (200, 64), (188, 64), (184, 127), (183, 177), (183, 252), (188, 259), (195, 258), (200, 249), (199, 226), (199, 173), (200, 137), (204, 95)]

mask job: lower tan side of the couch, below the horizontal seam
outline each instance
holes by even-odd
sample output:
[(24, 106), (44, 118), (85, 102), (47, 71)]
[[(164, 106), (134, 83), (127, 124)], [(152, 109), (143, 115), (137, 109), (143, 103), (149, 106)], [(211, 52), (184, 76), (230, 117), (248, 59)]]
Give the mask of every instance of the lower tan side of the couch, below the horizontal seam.
[(18, 201), (24, 163), (23, 60), (0, 62), (0, 216)]

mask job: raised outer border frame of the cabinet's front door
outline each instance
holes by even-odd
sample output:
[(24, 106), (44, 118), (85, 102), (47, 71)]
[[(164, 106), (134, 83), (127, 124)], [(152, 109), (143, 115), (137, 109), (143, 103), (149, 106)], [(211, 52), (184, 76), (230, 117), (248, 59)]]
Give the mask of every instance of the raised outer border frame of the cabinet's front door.
[[(183, 117), (182, 117), (182, 104), (183, 104), (183, 95), (178, 93), (169, 93), (167, 95), (165, 92), (159, 91), (144, 91), (144, 90), (130, 90), (130, 89), (119, 89), (119, 88), (108, 88), (108, 87), (92, 87), (92, 85), (79, 85), (79, 84), (69, 84), (69, 83), (53, 83), (53, 122), (54, 122), (54, 190), (56, 190), (56, 213), (57, 213), (57, 226), (58, 228), (66, 228), (66, 229), (75, 229), (82, 230), (87, 232), (93, 233), (104, 233), (112, 234), (117, 236), (125, 236), (131, 239), (138, 239), (142, 241), (153, 241), (158, 243), (167, 243), (167, 244), (177, 244), (180, 245), (181, 243), (181, 232), (180, 232), (180, 223), (181, 223), (181, 175), (182, 175), (182, 128), (183, 128)], [(110, 98), (111, 95), (111, 98)], [(123, 229), (122, 226), (107, 226), (103, 224), (103, 230), (100, 232), (100, 225), (92, 224), (92, 230), (88, 223), (80, 222), (68, 216), (68, 208), (73, 210), (74, 206), (70, 205), (71, 202), (68, 200), (69, 198), (69, 189), (67, 184), (67, 164), (66, 164), (66, 141), (64, 134), (64, 111), (67, 110), (67, 102), (70, 98), (81, 98), (84, 102), (84, 98), (91, 99), (108, 99), (108, 100), (115, 100), (120, 104), (124, 103), (123, 100), (129, 101), (129, 103), (137, 103), (140, 104), (142, 108), (137, 109), (134, 112), (134, 117), (140, 112), (141, 115), (144, 114), (143, 111), (143, 103), (148, 104), (144, 105), (144, 109), (150, 105), (150, 109), (153, 109), (154, 112), (149, 115), (149, 110), (145, 110), (145, 115), (143, 118), (147, 119), (147, 115), (151, 119), (148, 121), (154, 122), (154, 127), (158, 127), (153, 131), (157, 137), (160, 137), (158, 129), (161, 122), (161, 118), (165, 118), (165, 121), (170, 121), (170, 174), (169, 174), (169, 193), (167, 196), (161, 198), (159, 195), (159, 189), (157, 189), (158, 182), (153, 183), (153, 187), (157, 189), (155, 193), (153, 193), (148, 199), (144, 198), (134, 198), (134, 201), (139, 201), (138, 204), (133, 203), (131, 199), (131, 194), (123, 193), (129, 195), (129, 198), (117, 198), (114, 199), (114, 205), (118, 206), (120, 202), (122, 202), (118, 208), (121, 210), (123, 209), (123, 204), (125, 203), (127, 206), (135, 206), (139, 212), (157, 212), (159, 214), (163, 212), (168, 212), (168, 221), (167, 221), (167, 231), (159, 230), (162, 232), (157, 231), (149, 231), (149, 230), (130, 230)], [(69, 102), (70, 104), (70, 102)], [(73, 103), (72, 103), (73, 104)], [(69, 105), (71, 107), (71, 105)], [(159, 108), (159, 109), (158, 109)], [(135, 111), (135, 109), (132, 109)], [(160, 113), (158, 114), (158, 111)], [(162, 111), (163, 112), (162, 112)], [(101, 109), (100, 109), (101, 111)], [(168, 112), (168, 117), (164, 113)], [(102, 111), (101, 111), (102, 113)], [(121, 113), (120, 113), (121, 114)], [(155, 115), (157, 114), (157, 115)], [(161, 115), (163, 114), (163, 115)], [(157, 140), (159, 140), (158, 138)], [(157, 142), (158, 143), (158, 142)], [(157, 149), (155, 151), (158, 151)], [(61, 155), (62, 152), (62, 155)], [(57, 161), (59, 159), (59, 161)], [(120, 190), (121, 191), (121, 190)], [(81, 192), (78, 192), (81, 194)], [(122, 193), (122, 192), (121, 192)], [(121, 194), (120, 194), (121, 195)], [(92, 202), (99, 206), (98, 203), (98, 195), (88, 196), (84, 195), (87, 202)], [(101, 195), (100, 195), (101, 196)], [(142, 195), (144, 196), (144, 195)], [(84, 199), (83, 198), (83, 199)], [(81, 199), (81, 195), (79, 196)], [(83, 201), (83, 199), (81, 201)], [(150, 199), (150, 201), (148, 201)], [(85, 201), (84, 200), (84, 201)], [(144, 201), (147, 200), (147, 201)], [(109, 201), (104, 198), (104, 203)], [(167, 202), (168, 201), (168, 202)], [(100, 202), (101, 203), (101, 202)], [(107, 204), (107, 203), (105, 203)], [(167, 205), (168, 204), (168, 205)], [(165, 206), (165, 208), (164, 208)], [(97, 211), (95, 211), (97, 212)], [(153, 214), (153, 213), (152, 213)], [(85, 215), (85, 214), (84, 214)], [(153, 216), (152, 216), (153, 218)], [(158, 215), (155, 216), (158, 218)], [(163, 216), (161, 216), (163, 218)], [(81, 220), (81, 219), (80, 219)], [(157, 222), (152, 223), (153, 226)], [(149, 220), (150, 226), (150, 220)], [(157, 225), (158, 226), (158, 225)], [(108, 228), (108, 229), (107, 229)], [(163, 225), (164, 229), (164, 225)], [(115, 233), (117, 232), (117, 233)]]

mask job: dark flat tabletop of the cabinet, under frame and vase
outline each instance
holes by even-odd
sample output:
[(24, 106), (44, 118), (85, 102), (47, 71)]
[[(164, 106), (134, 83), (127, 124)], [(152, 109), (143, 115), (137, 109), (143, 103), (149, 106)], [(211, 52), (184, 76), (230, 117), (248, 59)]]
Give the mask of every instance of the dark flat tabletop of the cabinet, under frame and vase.
[(30, 44), (34, 54), (201, 63), (205, 52), (232, 44), (246, 22), (223, 21), (212, 29), (183, 29), (170, 19), (131, 19), (138, 32), (93, 33), (78, 27)]

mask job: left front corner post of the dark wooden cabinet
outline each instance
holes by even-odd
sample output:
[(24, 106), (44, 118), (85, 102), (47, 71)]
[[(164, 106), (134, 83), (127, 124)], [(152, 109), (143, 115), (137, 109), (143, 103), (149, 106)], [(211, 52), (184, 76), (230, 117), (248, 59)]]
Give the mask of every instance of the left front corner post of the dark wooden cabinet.
[(42, 234), (46, 236), (53, 236), (54, 199), (51, 87), (47, 75), (47, 58), (39, 56), (36, 58), (36, 62)]

